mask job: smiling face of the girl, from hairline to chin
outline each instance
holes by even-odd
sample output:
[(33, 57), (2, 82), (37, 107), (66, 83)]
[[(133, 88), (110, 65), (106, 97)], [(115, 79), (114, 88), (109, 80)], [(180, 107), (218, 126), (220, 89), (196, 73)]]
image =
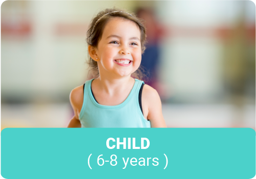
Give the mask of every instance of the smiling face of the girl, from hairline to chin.
[(100, 75), (128, 76), (141, 64), (141, 32), (137, 25), (119, 17), (107, 22), (96, 48)]

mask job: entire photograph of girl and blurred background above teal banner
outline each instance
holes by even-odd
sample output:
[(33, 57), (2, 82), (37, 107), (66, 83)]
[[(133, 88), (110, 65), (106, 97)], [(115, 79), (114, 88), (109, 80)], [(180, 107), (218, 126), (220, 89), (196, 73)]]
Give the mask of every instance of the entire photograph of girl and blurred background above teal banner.
[(7, 0), (8, 127), (256, 130), (250, 0)]

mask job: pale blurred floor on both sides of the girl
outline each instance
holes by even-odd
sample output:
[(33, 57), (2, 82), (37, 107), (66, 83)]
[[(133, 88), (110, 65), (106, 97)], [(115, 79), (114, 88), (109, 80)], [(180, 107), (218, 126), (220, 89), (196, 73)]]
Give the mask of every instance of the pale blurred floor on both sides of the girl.
[[(250, 127), (256, 130), (256, 106), (162, 105), (168, 127)], [(238, 119), (239, 116), (239, 119)], [(1, 105), (5, 127), (66, 127), (72, 117), (69, 104)]]

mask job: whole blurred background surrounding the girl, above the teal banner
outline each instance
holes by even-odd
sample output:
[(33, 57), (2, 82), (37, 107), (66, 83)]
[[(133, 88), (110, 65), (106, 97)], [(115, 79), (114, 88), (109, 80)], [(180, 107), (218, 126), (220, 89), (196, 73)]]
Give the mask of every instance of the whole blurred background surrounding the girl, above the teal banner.
[(66, 127), (89, 79), (86, 31), (104, 8), (146, 20), (142, 65), (168, 127), (256, 130), (256, 6), (250, 0), (7, 0), (1, 5), (1, 130)]

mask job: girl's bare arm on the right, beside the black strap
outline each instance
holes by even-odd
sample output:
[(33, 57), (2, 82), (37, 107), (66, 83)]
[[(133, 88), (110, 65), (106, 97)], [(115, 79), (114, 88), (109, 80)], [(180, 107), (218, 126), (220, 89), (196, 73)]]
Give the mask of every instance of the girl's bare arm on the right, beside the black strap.
[(151, 127), (167, 127), (164, 116), (162, 116), (162, 104), (157, 91), (148, 85), (144, 87), (142, 100), (146, 100), (147, 118), (150, 120)]

